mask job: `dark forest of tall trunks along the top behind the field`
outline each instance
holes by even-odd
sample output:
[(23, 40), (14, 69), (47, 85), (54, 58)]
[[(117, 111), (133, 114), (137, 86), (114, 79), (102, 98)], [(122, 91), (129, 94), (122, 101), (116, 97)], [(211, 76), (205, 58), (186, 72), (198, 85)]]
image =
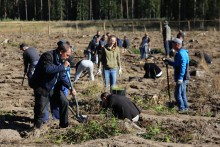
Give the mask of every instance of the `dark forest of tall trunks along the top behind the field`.
[(0, 0), (1, 20), (213, 20), (219, 0)]

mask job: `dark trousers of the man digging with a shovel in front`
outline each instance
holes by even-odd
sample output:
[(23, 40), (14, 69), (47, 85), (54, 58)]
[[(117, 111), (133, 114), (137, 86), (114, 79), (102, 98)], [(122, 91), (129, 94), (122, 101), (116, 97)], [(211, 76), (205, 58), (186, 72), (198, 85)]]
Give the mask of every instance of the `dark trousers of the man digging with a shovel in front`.
[(49, 101), (58, 104), (60, 113), (60, 127), (68, 126), (68, 105), (69, 102), (61, 90), (54, 93), (42, 94), (39, 90), (34, 90), (35, 105), (34, 105), (34, 126), (41, 128), (43, 124), (43, 117), (47, 110)]

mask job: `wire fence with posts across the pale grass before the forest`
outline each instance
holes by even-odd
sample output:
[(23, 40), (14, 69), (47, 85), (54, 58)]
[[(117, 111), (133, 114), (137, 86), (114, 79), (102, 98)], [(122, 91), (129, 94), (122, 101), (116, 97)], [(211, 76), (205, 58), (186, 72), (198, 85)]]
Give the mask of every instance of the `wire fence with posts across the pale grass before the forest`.
[[(169, 21), (172, 30), (183, 31), (220, 31), (220, 19), (197, 21)], [(0, 33), (53, 33), (84, 34), (102, 30), (133, 32), (162, 31), (163, 21), (132, 20), (98, 20), (98, 21), (32, 21), (32, 22), (0, 22)]]

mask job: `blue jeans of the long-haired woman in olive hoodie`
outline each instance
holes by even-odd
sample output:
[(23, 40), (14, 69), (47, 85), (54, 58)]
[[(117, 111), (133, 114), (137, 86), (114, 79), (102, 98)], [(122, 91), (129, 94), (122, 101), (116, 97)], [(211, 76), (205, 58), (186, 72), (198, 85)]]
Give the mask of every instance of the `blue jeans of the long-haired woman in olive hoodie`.
[(108, 87), (109, 84), (109, 80), (110, 80), (110, 87), (115, 86), (116, 85), (116, 81), (117, 81), (117, 69), (105, 69), (104, 70), (104, 74), (105, 74), (105, 87)]

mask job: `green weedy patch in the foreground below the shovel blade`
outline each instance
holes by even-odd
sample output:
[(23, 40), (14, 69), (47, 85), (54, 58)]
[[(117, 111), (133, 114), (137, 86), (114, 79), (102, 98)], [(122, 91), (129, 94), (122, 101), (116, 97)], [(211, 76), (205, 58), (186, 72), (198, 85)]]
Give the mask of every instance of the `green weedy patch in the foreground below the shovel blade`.
[(122, 133), (127, 133), (123, 121), (118, 121), (116, 118), (103, 118), (103, 120), (92, 120), (86, 124), (75, 125), (63, 132), (52, 130), (46, 136), (57, 144), (63, 142), (74, 144), (98, 138), (108, 138)]

